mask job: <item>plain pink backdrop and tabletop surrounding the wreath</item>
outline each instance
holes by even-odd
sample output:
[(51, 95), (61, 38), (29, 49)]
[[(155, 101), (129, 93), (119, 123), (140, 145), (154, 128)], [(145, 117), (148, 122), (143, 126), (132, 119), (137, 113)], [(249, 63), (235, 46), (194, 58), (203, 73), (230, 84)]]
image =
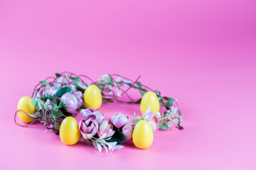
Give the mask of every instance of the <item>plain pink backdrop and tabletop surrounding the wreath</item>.
[[(256, 1), (0, 1), (0, 169), (256, 169)], [(117, 73), (178, 98), (184, 130), (112, 154), (21, 128), (21, 96), (55, 72)], [(104, 105), (132, 118), (139, 105)], [(78, 117), (79, 120), (81, 117)]]

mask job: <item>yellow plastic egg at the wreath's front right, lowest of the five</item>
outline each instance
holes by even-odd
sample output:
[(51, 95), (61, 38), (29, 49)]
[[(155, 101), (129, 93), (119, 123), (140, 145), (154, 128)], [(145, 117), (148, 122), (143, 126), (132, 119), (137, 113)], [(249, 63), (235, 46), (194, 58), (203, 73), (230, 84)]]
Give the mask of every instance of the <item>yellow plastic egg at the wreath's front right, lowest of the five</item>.
[(146, 149), (151, 146), (154, 139), (153, 130), (146, 120), (140, 120), (132, 133), (134, 145), (140, 149)]

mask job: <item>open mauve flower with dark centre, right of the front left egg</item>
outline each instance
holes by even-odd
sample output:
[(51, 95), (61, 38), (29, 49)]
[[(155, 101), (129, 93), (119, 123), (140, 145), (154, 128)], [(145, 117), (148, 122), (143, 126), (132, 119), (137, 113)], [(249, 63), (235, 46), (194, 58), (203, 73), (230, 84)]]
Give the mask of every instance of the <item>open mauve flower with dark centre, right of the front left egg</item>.
[(79, 130), (85, 140), (91, 139), (98, 131), (99, 125), (95, 119), (95, 115), (89, 115), (79, 123)]

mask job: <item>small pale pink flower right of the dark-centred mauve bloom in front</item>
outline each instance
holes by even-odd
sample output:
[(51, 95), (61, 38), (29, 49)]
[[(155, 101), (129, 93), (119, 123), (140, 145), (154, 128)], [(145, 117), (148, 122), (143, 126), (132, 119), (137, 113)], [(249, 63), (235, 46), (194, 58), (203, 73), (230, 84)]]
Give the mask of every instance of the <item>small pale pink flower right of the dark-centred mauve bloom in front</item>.
[(106, 136), (104, 138), (112, 137), (112, 135), (114, 135), (113, 125), (110, 121), (110, 118), (102, 121), (102, 123), (100, 124), (100, 130), (97, 132), (97, 135), (99, 137), (105, 134)]

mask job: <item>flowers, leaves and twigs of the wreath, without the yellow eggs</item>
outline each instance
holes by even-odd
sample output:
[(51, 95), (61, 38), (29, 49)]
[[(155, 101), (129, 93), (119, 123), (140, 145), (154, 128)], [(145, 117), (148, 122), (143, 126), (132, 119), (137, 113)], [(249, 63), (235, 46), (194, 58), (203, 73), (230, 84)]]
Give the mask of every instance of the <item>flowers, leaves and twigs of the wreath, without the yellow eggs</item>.
[[(84, 79), (89, 82), (85, 82)], [(146, 120), (153, 131), (158, 128), (168, 130), (171, 127), (182, 130), (183, 118), (181, 111), (178, 110), (177, 101), (174, 98), (161, 96), (159, 91), (144, 86), (138, 80), (139, 77), (132, 81), (117, 74), (104, 74), (97, 81), (93, 81), (85, 75), (76, 75), (70, 72), (56, 73), (55, 77), (48, 77), (45, 81), (40, 81), (33, 90), (32, 104), (36, 106), (36, 113), (26, 113), (33, 118), (33, 122), (28, 125), (38, 121), (45, 125), (46, 129), (53, 130), (58, 135), (63, 119), (68, 116), (75, 117), (80, 113), (83, 117), (79, 123), (82, 140), (92, 142), (92, 145), (100, 152), (102, 152), (102, 148), (106, 152), (121, 149), (123, 142), (132, 140), (132, 132), (139, 120)], [(111, 118), (105, 118), (100, 111), (96, 111), (94, 108), (85, 108), (82, 101), (83, 93), (90, 84), (98, 86), (105, 103), (117, 101), (139, 104), (142, 98), (134, 101), (128, 94), (129, 89), (137, 89), (142, 96), (146, 91), (154, 91), (160, 105), (166, 111), (150, 112), (151, 106), (149, 105), (144, 115), (140, 116), (134, 113), (131, 122), (129, 122), (129, 117), (122, 113), (114, 113)], [(128, 101), (121, 99), (121, 96), (127, 96)], [(15, 123), (20, 125), (16, 122), (16, 116)]]

